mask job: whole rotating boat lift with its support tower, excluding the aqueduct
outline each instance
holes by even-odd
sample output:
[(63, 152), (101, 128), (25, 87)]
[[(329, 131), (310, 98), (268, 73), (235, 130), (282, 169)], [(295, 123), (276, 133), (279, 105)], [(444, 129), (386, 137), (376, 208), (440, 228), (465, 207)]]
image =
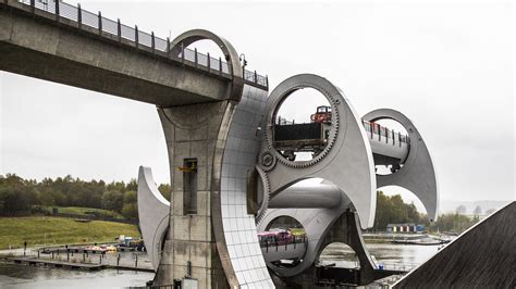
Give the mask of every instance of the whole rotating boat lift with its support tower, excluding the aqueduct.
[[(231, 70), (239, 71), (234, 48), (211, 33), (188, 32), (172, 45), (199, 39), (216, 41)], [(335, 241), (357, 253), (359, 282), (372, 281), (376, 267), (360, 228), (373, 225), (378, 188), (410, 190), (429, 217), (437, 218), (437, 176), (414, 123), (390, 109), (360, 116), (341, 89), (318, 75), (292, 76), (270, 95), (236, 78), (230, 100), (158, 108), (169, 151), (171, 202), (158, 191), (150, 168), (140, 167), (138, 176), (138, 213), (156, 271), (153, 285), (183, 279), (199, 288), (309, 287), (306, 280), (319, 255)], [(304, 88), (328, 99), (331, 116), (309, 124), (279, 123), (280, 105)], [(407, 135), (376, 123), (385, 118), (398, 122)], [(311, 148), (314, 158), (295, 161), (293, 152), (302, 148)], [(392, 174), (377, 174), (376, 165), (391, 167)], [(312, 178), (322, 181), (297, 184)], [(258, 233), (283, 216), (303, 225), (304, 241), (286, 243), (288, 250), (281, 252), (263, 248)], [(295, 264), (279, 265), (287, 259)]]

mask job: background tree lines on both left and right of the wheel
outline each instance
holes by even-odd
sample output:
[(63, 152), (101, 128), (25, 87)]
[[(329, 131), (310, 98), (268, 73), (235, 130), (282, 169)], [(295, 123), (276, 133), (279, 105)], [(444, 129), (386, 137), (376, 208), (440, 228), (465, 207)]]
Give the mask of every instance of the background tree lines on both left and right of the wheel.
[[(137, 188), (136, 179), (108, 184), (67, 175), (37, 181), (8, 174), (0, 176), (0, 215), (27, 214), (35, 205), (83, 206), (110, 210), (133, 219), (138, 217)], [(170, 201), (171, 186), (161, 184), (158, 189)], [(386, 196), (378, 191), (373, 230), (384, 231), (388, 224), (414, 223), (433, 231), (460, 233), (478, 221), (478, 215), (471, 218), (457, 210), (455, 214), (443, 214), (437, 222), (430, 222), (414, 203), (405, 203), (400, 194)]]

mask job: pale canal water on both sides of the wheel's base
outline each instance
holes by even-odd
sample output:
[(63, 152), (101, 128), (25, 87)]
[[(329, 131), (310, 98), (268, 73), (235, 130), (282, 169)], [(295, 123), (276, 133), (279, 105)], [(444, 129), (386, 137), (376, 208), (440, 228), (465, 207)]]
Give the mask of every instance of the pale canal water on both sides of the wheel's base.
[[(385, 268), (398, 264), (414, 266), (438, 252), (438, 246), (367, 243), (369, 252)], [(355, 253), (343, 243), (332, 243), (321, 254), (323, 263), (355, 267)], [(0, 288), (124, 288), (144, 286), (153, 273), (103, 269), (82, 272), (34, 267), (0, 260)]]

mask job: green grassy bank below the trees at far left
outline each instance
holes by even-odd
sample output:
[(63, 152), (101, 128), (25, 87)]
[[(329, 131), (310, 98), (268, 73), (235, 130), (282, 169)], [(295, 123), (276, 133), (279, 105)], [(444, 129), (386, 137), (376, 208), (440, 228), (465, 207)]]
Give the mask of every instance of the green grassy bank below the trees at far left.
[(112, 242), (119, 235), (138, 237), (136, 225), (113, 222), (76, 222), (63, 217), (0, 217), (0, 249), (83, 242)]

